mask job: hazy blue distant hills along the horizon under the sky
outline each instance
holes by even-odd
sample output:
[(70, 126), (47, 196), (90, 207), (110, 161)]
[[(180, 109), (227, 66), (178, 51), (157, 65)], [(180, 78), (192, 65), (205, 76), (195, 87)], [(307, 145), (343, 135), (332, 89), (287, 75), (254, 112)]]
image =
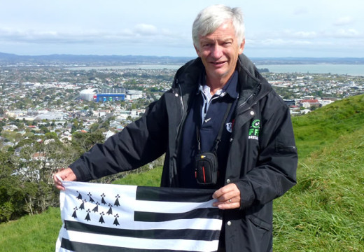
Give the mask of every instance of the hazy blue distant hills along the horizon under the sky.
[[(118, 64), (183, 64), (195, 57), (143, 56), (143, 55), (15, 55), (0, 52), (0, 66), (12, 64), (84, 64), (111, 66)], [(258, 65), (264, 64), (364, 64), (364, 58), (313, 57), (251, 57)]]

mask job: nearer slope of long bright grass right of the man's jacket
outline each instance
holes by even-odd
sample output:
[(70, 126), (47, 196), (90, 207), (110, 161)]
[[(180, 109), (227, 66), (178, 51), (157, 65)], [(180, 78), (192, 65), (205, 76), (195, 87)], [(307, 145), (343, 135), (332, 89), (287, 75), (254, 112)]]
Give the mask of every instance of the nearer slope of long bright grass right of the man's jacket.
[(364, 251), (364, 128), (302, 160), (274, 201), (274, 251)]

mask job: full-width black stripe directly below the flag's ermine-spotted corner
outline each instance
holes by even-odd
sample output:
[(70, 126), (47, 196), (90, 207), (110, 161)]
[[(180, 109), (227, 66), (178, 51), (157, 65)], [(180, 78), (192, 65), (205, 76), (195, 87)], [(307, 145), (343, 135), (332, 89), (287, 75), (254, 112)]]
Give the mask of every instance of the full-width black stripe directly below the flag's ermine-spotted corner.
[(127, 230), (120, 228), (106, 228), (76, 221), (64, 221), (66, 230), (85, 232), (99, 235), (115, 235), (120, 237), (134, 237), (146, 239), (190, 239), (202, 241), (218, 240), (220, 230)]

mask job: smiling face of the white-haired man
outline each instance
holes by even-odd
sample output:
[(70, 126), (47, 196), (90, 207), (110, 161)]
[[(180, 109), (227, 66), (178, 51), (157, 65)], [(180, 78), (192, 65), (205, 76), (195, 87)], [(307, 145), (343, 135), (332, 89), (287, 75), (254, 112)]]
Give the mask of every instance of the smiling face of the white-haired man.
[(195, 49), (205, 66), (207, 78), (225, 85), (235, 71), (244, 42), (238, 44), (232, 22), (225, 22), (213, 33), (200, 36), (200, 49)]

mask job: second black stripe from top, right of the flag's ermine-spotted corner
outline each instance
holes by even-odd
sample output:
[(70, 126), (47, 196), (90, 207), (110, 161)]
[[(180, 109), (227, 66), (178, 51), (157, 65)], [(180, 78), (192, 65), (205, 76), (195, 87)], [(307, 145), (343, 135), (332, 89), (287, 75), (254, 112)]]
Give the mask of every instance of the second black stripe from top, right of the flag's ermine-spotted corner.
[(158, 222), (158, 221), (173, 221), (181, 219), (193, 218), (215, 218), (221, 219), (220, 209), (195, 209), (186, 213), (154, 213), (144, 211), (134, 211), (134, 221)]

